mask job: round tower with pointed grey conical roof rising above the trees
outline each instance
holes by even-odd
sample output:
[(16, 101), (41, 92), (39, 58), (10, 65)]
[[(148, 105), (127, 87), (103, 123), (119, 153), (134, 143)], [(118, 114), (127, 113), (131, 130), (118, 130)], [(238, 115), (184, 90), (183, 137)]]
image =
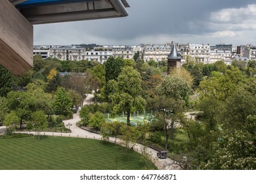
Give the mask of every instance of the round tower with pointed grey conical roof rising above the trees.
[(173, 44), (173, 50), (171, 50), (171, 54), (169, 54), (168, 58), (168, 69), (167, 74), (169, 75), (171, 71), (177, 69), (178, 71), (181, 69), (181, 54), (179, 54), (175, 44)]

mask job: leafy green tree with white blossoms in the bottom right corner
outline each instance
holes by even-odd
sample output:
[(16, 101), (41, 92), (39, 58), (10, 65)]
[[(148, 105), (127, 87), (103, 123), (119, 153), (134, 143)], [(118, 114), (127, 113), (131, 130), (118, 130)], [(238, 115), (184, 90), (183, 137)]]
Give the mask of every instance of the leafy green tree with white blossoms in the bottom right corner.
[(255, 170), (255, 135), (242, 130), (225, 135), (216, 145), (216, 150), (201, 169)]

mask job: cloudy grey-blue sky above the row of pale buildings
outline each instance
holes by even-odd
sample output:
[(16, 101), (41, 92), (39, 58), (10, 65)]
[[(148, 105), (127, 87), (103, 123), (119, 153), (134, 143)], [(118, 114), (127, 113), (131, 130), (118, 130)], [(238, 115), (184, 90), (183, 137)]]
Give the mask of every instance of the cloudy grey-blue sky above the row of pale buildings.
[(34, 44), (256, 44), (255, 0), (127, 0), (129, 16), (34, 25)]

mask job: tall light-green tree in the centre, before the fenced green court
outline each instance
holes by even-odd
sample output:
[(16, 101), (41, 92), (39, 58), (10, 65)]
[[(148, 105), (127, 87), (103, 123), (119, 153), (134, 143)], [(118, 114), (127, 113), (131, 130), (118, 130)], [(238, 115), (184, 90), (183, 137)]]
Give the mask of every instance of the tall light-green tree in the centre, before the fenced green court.
[[(110, 93), (113, 112), (127, 112), (127, 125), (131, 125), (130, 116), (136, 110), (142, 110), (145, 100), (142, 98), (141, 77), (133, 67), (124, 67), (116, 81), (112, 81), (114, 89)], [(116, 91), (115, 91), (116, 90)]]

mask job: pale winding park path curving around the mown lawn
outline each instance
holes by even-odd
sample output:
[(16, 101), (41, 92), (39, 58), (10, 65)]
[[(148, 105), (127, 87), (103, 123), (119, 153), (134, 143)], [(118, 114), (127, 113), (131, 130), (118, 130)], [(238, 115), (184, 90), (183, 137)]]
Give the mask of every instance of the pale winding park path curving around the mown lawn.
[[(89, 94), (87, 96), (87, 99), (85, 99), (84, 105), (87, 105), (89, 103), (92, 103), (93, 95)], [(77, 113), (74, 114), (73, 118), (70, 120), (64, 120), (64, 124), (66, 127), (70, 128), (72, 131), (71, 133), (56, 133), (56, 132), (41, 132), (41, 135), (49, 135), (49, 136), (62, 136), (62, 137), (74, 137), (74, 138), (86, 138), (86, 139), (96, 139), (96, 140), (102, 140), (101, 135), (96, 134), (96, 133), (91, 133), (89, 131), (86, 131), (84, 129), (81, 129), (78, 127), (76, 124), (79, 122), (81, 118), (79, 118), (79, 110), (77, 110)], [(3, 127), (2, 127), (3, 128)], [(22, 133), (28, 133), (28, 132), (22, 132)], [(30, 131), (32, 134), (36, 134), (36, 131)], [(109, 141), (110, 142), (115, 142), (114, 137), (110, 137)], [(121, 145), (120, 139), (117, 139), (117, 144)], [(142, 149), (143, 146), (142, 144), (135, 144), (133, 147), (133, 150), (136, 152), (139, 152), (142, 154)], [(175, 170), (175, 169), (180, 169), (179, 165), (175, 165), (174, 161), (167, 158), (167, 159), (158, 159), (157, 158), (157, 151), (152, 149), (152, 148), (146, 148), (146, 152), (150, 154), (152, 161), (155, 163), (156, 167), (161, 170)]]

